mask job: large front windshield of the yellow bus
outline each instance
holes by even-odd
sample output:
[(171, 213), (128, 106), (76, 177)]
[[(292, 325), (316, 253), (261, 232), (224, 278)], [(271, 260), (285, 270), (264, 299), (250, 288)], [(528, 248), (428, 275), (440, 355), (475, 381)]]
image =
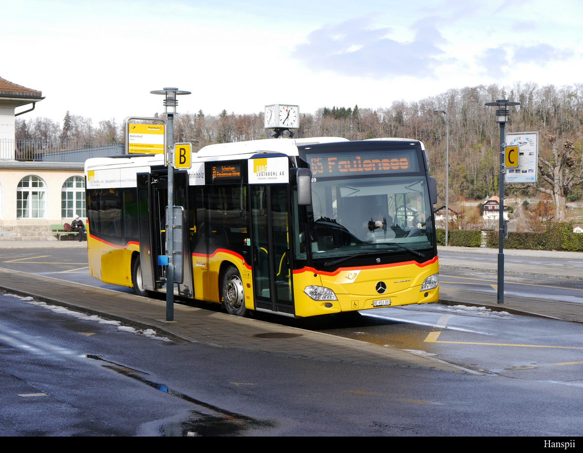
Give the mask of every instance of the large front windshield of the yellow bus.
[(314, 259), (433, 249), (431, 204), (423, 176), (318, 178), (308, 208)]

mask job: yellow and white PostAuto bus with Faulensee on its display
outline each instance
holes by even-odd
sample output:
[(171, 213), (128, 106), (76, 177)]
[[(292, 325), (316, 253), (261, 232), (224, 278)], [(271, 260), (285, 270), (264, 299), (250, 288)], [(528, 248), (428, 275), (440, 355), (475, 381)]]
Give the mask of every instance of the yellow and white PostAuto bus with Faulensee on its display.
[[(166, 292), (163, 156), (94, 158), (85, 174), (90, 273)], [(439, 298), (437, 185), (418, 140), (215, 144), (173, 186), (177, 296), (292, 317)]]

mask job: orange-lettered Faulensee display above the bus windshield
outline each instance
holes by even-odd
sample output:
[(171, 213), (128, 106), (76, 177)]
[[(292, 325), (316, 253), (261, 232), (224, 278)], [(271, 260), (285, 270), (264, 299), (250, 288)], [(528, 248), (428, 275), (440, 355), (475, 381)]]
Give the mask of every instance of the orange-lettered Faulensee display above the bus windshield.
[(419, 171), (414, 151), (400, 153), (326, 153), (310, 154), (308, 162), (314, 176), (349, 176)]

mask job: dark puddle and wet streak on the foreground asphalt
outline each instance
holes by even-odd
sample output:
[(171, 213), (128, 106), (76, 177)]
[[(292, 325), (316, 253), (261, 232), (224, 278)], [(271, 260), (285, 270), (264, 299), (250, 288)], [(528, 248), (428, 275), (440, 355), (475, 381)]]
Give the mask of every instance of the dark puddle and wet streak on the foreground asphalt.
[[(123, 376), (130, 377), (142, 384), (149, 385), (156, 390), (167, 393), (176, 398), (184, 399), (201, 408), (206, 409), (206, 412), (199, 410), (191, 410), (191, 416), (182, 422), (167, 423), (159, 427), (158, 432), (160, 436), (243, 436), (245, 431), (254, 429), (266, 430), (276, 426), (275, 422), (269, 420), (257, 420), (252, 417), (247, 417), (236, 412), (221, 409), (212, 404), (208, 404), (199, 399), (189, 397), (181, 392), (177, 392), (168, 388), (167, 385), (150, 381), (146, 378), (149, 374), (139, 371), (118, 363), (110, 362), (101, 356), (87, 354), (88, 359), (100, 360), (105, 362), (104, 368), (115, 371)], [(214, 412), (215, 415), (208, 412)]]

